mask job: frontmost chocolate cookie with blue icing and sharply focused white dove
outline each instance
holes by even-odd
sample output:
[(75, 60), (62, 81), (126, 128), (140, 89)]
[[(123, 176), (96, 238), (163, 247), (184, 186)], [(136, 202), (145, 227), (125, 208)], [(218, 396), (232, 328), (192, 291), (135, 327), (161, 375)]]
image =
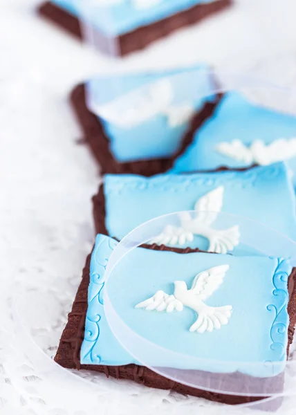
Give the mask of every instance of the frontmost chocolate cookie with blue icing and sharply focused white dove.
[[(109, 327), (104, 275), (116, 245), (114, 239), (98, 235), (55, 360), (64, 367), (104, 371), (107, 376), (181, 391), (177, 382), (140, 367)], [(145, 363), (150, 367), (215, 374), (215, 381), (236, 374), (250, 384), (250, 391), (259, 379), (276, 393), (283, 387), (282, 371), (292, 341), (288, 330), (293, 333), (296, 323), (296, 297), (294, 291), (288, 293), (289, 278), (294, 278), (292, 267), (280, 258), (136, 248), (115, 266), (107, 288), (124, 324), (167, 351), (149, 354), (148, 348)], [(289, 286), (292, 289), (293, 284)], [(172, 359), (171, 352), (184, 358)], [(225, 403), (252, 400), (185, 385), (183, 393)]]

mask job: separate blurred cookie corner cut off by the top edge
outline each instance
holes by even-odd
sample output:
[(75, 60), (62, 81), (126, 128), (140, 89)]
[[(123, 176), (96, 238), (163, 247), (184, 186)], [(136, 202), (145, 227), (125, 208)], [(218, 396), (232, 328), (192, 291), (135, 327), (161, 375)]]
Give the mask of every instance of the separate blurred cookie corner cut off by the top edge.
[(106, 52), (113, 40), (113, 50), (126, 55), (231, 3), (231, 0), (51, 0), (39, 12), (78, 37), (82, 37), (78, 19), (89, 16), (98, 46)]

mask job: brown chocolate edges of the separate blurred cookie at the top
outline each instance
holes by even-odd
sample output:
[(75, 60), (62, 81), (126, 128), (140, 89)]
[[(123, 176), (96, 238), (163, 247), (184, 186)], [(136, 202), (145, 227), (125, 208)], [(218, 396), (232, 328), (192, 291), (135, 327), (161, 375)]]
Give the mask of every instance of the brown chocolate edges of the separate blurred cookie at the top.
[[(196, 24), (199, 21), (220, 12), (232, 5), (232, 0), (216, 0), (213, 3), (198, 4), (183, 12), (178, 12), (166, 19), (156, 21), (148, 26), (142, 26), (133, 32), (126, 33), (118, 37), (119, 53), (121, 56), (141, 50), (152, 42), (161, 39), (175, 30)], [(75, 37), (82, 39), (82, 30), (77, 17), (74, 17), (66, 10), (59, 8), (54, 3), (47, 1), (37, 10), (39, 15), (53, 21), (55, 24), (62, 26)], [(104, 39), (98, 37), (98, 44), (104, 47)]]

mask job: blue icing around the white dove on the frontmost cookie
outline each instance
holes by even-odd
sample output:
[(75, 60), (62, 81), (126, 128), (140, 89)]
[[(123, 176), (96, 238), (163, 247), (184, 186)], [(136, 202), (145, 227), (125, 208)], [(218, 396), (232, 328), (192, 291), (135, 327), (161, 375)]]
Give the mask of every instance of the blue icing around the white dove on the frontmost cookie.
[[(82, 364), (126, 365), (135, 362), (111, 333), (100, 299), (104, 269), (115, 245), (116, 242), (109, 237), (98, 235), (91, 259)], [(221, 286), (205, 299), (205, 304), (232, 306), (229, 322), (220, 330), (203, 334), (189, 332), (196, 313), (188, 307), (181, 313), (148, 312), (135, 308), (136, 304), (158, 290), (173, 294), (177, 280), (185, 281), (191, 288), (196, 274), (219, 265), (230, 268)], [(238, 370), (252, 376), (274, 376), (283, 366), (270, 367), (263, 363), (286, 360), (287, 282), (291, 270), (288, 261), (276, 258), (201, 252), (176, 254), (136, 248), (115, 266), (108, 282), (108, 295), (116, 313), (129, 328), (160, 347), (187, 356), (180, 361), (169, 360), (167, 353), (149, 356), (147, 349), (145, 363), (151, 366), (214, 372)], [(201, 361), (194, 360), (193, 365), (190, 358)], [(227, 364), (219, 365), (214, 360)], [(261, 362), (262, 365), (252, 366), (250, 362)]]

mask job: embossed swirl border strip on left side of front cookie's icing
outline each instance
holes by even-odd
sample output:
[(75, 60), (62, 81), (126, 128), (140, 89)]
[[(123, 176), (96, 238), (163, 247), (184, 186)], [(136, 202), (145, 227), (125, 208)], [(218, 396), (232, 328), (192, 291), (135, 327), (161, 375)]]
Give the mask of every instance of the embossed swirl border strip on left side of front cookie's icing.
[[(109, 257), (111, 256), (116, 241), (111, 238), (100, 238), (96, 243), (91, 257), (91, 282), (89, 287), (89, 308), (85, 321), (84, 343), (81, 351), (81, 360), (101, 362), (100, 356), (93, 356), (93, 348), (100, 336), (100, 322), (104, 318), (104, 284), (105, 272)], [(100, 251), (100, 255), (97, 255)], [(95, 269), (95, 272), (93, 270)], [(93, 311), (93, 312), (92, 312)]]

